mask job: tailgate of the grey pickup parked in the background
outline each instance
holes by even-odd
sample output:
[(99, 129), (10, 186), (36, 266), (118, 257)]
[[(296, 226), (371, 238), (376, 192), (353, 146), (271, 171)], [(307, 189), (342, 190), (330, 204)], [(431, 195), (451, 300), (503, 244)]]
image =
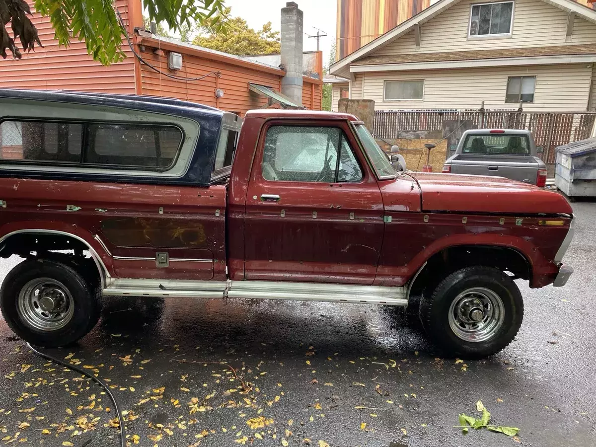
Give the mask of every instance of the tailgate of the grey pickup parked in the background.
[(532, 156), (486, 156), (458, 154), (451, 160), (454, 174), (495, 175), (535, 184), (540, 163)]

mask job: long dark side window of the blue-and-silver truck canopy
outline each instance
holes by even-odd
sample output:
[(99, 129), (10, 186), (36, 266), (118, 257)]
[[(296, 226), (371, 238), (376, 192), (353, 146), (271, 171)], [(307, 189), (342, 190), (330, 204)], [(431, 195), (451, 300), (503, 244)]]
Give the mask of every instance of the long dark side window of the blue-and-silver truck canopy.
[(172, 125), (4, 120), (0, 160), (161, 171), (175, 163), (182, 140)]

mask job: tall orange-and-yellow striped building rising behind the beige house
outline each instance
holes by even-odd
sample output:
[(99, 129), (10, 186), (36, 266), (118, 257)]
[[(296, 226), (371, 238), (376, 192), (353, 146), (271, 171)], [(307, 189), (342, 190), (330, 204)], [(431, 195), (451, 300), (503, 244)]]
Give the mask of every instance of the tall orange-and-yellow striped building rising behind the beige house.
[[(374, 41), (437, 0), (337, 0), (336, 61)], [(595, 0), (576, 0), (594, 8)]]

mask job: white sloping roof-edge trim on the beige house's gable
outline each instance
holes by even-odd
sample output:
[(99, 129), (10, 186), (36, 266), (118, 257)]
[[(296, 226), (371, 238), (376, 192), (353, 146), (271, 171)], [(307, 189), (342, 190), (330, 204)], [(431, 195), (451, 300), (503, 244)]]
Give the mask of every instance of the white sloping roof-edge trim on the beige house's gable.
[[(333, 75), (347, 76), (349, 74), (350, 63), (352, 63), (353, 61), (365, 57), (366, 55), (371, 54), (371, 52), (377, 49), (383, 48), (383, 46), (390, 44), (391, 42), (405, 35), (406, 33), (409, 33), (412, 29), (414, 29), (414, 26), (416, 24), (422, 25), (426, 23), (427, 21), (431, 20), (437, 15), (443, 13), (443, 11), (446, 11), (452, 6), (458, 4), (460, 1), (461, 0), (440, 0), (436, 2), (434, 5), (430, 5), (430, 7), (426, 8), (426, 10), (420, 11), (420, 13), (412, 16), (411, 18), (402, 22), (395, 28), (387, 31), (381, 36), (378, 36), (378, 38), (374, 39), (374, 41), (369, 42), (367, 45), (362, 46), (361, 48), (347, 55), (343, 59), (340, 59), (331, 67), (329, 67), (329, 72)], [(576, 15), (583, 18), (584, 20), (596, 24), (596, 11), (579, 4), (574, 0), (541, 1), (562, 11), (566, 11), (567, 13), (574, 12), (576, 13)]]

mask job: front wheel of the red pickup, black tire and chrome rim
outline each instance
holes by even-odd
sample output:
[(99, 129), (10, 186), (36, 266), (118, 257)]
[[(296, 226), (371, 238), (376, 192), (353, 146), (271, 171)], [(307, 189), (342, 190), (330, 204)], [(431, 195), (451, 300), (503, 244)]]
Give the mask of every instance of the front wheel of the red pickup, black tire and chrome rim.
[(511, 343), (522, 325), (517, 285), (493, 267), (474, 266), (446, 277), (420, 303), (429, 338), (450, 356), (483, 358)]

